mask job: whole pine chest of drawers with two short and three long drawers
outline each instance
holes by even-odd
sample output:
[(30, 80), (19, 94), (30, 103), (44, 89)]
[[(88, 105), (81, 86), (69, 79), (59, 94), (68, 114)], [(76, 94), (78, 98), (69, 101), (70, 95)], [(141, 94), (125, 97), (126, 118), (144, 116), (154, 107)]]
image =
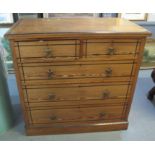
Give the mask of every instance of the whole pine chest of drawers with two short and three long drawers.
[(6, 37), (27, 134), (127, 129), (148, 35), (119, 18), (17, 22)]

